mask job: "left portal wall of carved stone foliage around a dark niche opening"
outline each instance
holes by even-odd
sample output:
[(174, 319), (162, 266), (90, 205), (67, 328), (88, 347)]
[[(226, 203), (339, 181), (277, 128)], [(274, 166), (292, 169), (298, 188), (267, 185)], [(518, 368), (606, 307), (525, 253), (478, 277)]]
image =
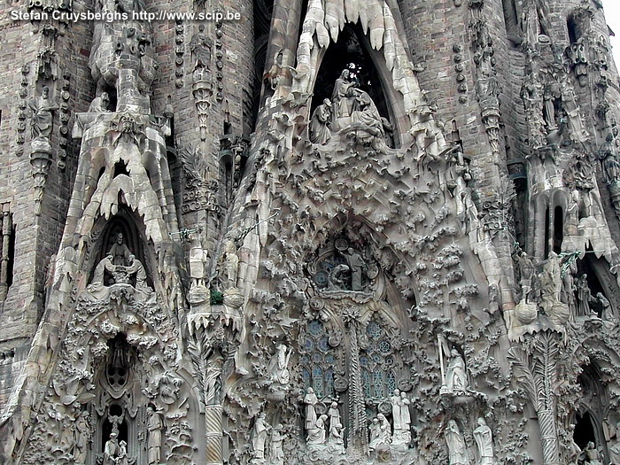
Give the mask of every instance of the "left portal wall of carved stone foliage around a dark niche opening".
[[(151, 450), (168, 463), (194, 460), (197, 411), (177, 374), (178, 329), (161, 306), (114, 286), (109, 299), (78, 299), (24, 463), (105, 463), (120, 456), (122, 441), (128, 463), (146, 461)], [(158, 418), (147, 418), (146, 404)], [(102, 453), (112, 434), (116, 442)], [(148, 451), (144, 438), (151, 438)]]

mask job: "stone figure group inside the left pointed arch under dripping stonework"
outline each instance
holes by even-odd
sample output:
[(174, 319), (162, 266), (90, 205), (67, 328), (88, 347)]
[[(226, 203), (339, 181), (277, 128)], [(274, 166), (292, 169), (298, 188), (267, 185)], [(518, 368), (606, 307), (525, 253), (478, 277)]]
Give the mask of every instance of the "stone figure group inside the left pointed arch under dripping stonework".
[(92, 280), (86, 288), (87, 295), (103, 300), (110, 295), (114, 286), (133, 288), (134, 297), (138, 300), (154, 298), (143, 263), (129, 250), (122, 233), (116, 236), (105, 258), (95, 267)]

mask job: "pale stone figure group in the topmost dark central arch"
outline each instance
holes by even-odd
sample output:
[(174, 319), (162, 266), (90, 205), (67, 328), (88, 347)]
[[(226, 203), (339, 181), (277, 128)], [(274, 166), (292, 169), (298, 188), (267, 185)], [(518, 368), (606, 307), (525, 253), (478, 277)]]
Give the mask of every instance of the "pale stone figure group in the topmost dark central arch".
[(310, 142), (324, 145), (332, 131), (358, 128), (369, 136), (384, 138), (390, 123), (382, 118), (367, 92), (360, 89), (345, 69), (336, 80), (331, 99), (326, 98), (312, 114), (309, 126)]

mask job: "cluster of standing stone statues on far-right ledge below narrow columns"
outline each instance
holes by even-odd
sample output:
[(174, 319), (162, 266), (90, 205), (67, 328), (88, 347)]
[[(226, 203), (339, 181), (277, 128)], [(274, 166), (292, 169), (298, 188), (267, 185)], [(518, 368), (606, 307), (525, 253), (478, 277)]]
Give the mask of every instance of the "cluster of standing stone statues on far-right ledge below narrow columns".
[[(524, 306), (539, 305), (554, 323), (561, 325), (575, 317), (598, 317), (594, 306), (599, 306), (603, 321), (616, 322), (608, 298), (602, 292), (593, 296), (588, 276), (575, 277), (577, 267), (571, 257), (571, 254), (560, 256), (550, 252), (549, 257), (537, 265), (526, 252), (515, 253)], [(532, 314), (532, 319), (535, 316)]]

